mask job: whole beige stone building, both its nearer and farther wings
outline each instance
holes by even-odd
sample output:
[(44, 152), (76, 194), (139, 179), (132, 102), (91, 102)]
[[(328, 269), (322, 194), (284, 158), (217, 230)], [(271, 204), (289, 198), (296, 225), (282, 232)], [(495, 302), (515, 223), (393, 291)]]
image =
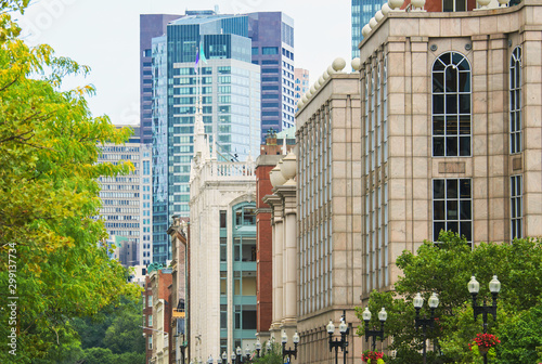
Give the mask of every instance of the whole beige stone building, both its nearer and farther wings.
[(441, 229), (542, 235), (542, 1), (389, 12), (360, 54), (297, 114), (299, 363), (327, 363), (327, 322), (392, 289), (396, 259)]

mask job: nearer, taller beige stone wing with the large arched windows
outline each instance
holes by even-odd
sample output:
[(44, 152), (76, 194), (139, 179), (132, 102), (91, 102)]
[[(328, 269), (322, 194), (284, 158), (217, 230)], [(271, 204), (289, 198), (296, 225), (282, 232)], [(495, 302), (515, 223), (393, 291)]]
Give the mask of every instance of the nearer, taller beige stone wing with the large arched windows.
[[(364, 298), (391, 288), (397, 257), (436, 238), (439, 226), (457, 225), (473, 244), (542, 235), (541, 15), (541, 1), (462, 13), (391, 12), (360, 44)], [(441, 64), (447, 54), (464, 63)], [(459, 77), (461, 90), (449, 83), (440, 90), (439, 73), (444, 82)], [(387, 150), (378, 153), (379, 144)], [(470, 191), (439, 197), (439, 181), (448, 187), (454, 180)]]

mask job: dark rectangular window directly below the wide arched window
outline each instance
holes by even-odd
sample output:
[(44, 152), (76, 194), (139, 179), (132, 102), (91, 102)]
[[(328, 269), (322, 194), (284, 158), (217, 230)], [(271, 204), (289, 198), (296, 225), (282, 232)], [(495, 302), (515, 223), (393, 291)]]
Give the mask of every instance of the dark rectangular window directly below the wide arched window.
[(440, 231), (452, 231), (473, 240), (473, 195), (470, 179), (433, 181), (433, 240)]

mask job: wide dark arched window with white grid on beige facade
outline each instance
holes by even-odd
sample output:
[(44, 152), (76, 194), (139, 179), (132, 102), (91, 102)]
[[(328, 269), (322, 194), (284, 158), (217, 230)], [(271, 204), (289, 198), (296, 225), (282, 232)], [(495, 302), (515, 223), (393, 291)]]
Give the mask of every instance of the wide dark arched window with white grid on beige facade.
[(470, 156), (470, 65), (461, 53), (433, 65), (433, 155)]

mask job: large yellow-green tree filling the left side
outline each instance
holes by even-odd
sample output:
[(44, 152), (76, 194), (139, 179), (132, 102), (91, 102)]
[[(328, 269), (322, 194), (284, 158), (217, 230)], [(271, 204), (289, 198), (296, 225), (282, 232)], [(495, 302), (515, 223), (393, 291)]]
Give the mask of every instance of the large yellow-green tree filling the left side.
[[(131, 130), (92, 117), (92, 87), (61, 91), (64, 77), (89, 69), (20, 39), (10, 12), (27, 4), (0, 1), (0, 362), (60, 363), (64, 358), (52, 355), (73, 342), (70, 317), (139, 297), (101, 244), (103, 222), (92, 219), (101, 206), (98, 178), (133, 168), (96, 164), (98, 145), (122, 143)], [(16, 355), (5, 350), (12, 327)]]

